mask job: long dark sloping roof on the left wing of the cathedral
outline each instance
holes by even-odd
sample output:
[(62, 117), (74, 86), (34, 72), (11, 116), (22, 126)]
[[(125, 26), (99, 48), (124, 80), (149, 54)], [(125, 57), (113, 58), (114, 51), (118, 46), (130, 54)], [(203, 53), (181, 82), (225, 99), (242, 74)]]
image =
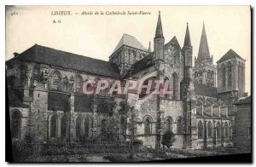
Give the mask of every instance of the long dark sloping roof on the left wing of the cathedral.
[(30, 49), (27, 49), (11, 60), (31, 61), (107, 77), (120, 77), (118, 67), (111, 65), (108, 61), (97, 60), (83, 55), (75, 55), (65, 51), (40, 46), (38, 44), (35, 44)]

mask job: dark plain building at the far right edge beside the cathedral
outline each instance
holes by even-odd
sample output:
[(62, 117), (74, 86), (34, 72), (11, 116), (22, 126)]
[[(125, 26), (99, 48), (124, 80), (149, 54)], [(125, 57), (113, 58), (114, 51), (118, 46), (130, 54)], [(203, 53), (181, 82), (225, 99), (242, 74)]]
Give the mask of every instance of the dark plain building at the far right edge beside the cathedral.
[(235, 116), (234, 145), (247, 151), (252, 149), (252, 108), (251, 96), (240, 99), (235, 104), (237, 112)]

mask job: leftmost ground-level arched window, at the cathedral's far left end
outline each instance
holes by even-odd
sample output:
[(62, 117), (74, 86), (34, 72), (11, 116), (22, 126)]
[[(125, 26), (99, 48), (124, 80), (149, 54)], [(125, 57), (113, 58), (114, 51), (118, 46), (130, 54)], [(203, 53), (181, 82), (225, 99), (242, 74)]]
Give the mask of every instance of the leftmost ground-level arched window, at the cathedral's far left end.
[(15, 111), (11, 116), (11, 135), (12, 138), (20, 138), (20, 113)]

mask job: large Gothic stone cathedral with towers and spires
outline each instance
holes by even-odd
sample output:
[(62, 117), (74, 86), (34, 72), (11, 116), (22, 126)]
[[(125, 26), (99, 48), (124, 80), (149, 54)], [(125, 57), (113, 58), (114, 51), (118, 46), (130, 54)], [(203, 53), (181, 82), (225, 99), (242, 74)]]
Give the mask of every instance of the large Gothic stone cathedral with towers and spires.
[[(12, 141), (33, 134), (44, 143), (139, 141), (161, 147), (162, 136), (172, 131), (173, 148), (232, 146), (235, 103), (247, 96), (245, 60), (230, 49), (214, 65), (204, 24), (193, 59), (186, 26), (182, 47), (175, 36), (166, 42), (159, 13), (153, 50), (124, 33), (108, 61), (38, 44), (15, 53), (6, 61)], [(100, 79), (168, 81), (171, 94), (83, 94), (82, 83)]]

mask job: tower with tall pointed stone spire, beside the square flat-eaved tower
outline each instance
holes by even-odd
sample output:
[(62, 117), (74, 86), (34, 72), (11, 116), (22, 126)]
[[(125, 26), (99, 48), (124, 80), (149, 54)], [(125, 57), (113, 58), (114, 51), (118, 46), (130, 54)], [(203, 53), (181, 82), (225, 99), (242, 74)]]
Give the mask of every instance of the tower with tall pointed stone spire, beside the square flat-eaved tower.
[(216, 66), (212, 64), (212, 60), (213, 55), (210, 56), (207, 32), (203, 24), (198, 56), (195, 58), (195, 82), (216, 87)]

